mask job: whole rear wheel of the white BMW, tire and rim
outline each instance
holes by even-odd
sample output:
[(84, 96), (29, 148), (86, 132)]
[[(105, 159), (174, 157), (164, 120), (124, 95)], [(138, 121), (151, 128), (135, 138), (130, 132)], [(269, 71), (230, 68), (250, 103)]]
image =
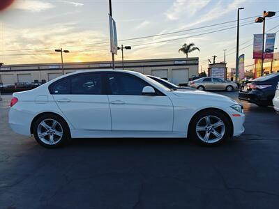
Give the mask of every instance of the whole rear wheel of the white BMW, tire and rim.
[(33, 134), (38, 144), (46, 148), (63, 146), (70, 139), (67, 123), (53, 114), (37, 118), (33, 123)]

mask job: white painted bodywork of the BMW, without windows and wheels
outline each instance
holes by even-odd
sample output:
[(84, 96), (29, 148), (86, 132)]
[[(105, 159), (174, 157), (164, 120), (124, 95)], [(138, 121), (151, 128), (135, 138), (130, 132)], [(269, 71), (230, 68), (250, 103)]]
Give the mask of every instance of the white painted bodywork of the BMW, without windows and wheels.
[[(86, 70), (96, 71), (98, 70)], [(73, 138), (185, 138), (190, 120), (198, 111), (216, 108), (231, 118), (234, 136), (244, 131), (245, 116), (231, 108), (238, 103), (230, 98), (204, 91), (167, 91), (165, 87), (138, 72), (113, 72), (126, 72), (140, 77), (165, 95), (51, 95), (48, 86), (61, 79), (59, 77), (31, 91), (13, 94), (18, 102), (10, 108), (10, 127), (19, 134), (30, 136), (33, 118), (44, 112), (52, 112), (68, 123)], [(80, 72), (62, 77), (77, 73)], [(70, 102), (63, 102), (63, 99)], [(58, 102), (59, 100), (62, 102)], [(233, 114), (239, 116), (232, 116)]]

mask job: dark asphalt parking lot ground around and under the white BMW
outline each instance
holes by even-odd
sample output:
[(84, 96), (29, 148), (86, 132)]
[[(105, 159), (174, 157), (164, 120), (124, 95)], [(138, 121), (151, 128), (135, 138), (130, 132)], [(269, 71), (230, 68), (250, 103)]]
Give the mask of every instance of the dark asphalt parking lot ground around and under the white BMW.
[[(237, 98), (237, 93), (222, 93)], [(242, 102), (246, 132), (187, 139), (75, 139), (48, 150), (8, 127), (0, 102), (0, 208), (278, 208), (279, 115)]]

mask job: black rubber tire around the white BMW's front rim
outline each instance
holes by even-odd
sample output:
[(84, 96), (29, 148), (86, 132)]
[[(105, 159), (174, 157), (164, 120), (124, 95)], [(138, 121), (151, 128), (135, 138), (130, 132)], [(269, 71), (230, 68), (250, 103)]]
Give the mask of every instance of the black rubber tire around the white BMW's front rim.
[[(214, 132), (215, 132), (215, 130), (219, 131), (218, 130), (219, 128), (221, 130), (221, 129), (223, 129), (223, 127), (225, 127), (225, 130), (223, 130), (223, 132), (224, 132), (223, 137), (218, 139), (218, 141), (214, 141), (213, 139), (212, 139), (212, 141), (210, 140), (211, 138), (216, 137), (216, 135), (213, 133), (209, 134), (208, 142), (202, 141), (202, 139), (199, 138), (197, 131), (196, 131), (197, 123), (202, 123), (203, 121), (201, 121), (201, 120), (203, 120), (202, 118), (204, 118), (205, 116), (212, 116), (212, 118), (211, 118), (212, 125), (215, 123), (214, 119), (216, 119), (216, 118), (220, 118), (220, 120), (223, 121), (224, 126), (222, 125), (222, 127), (214, 128)], [(205, 136), (206, 132), (208, 132), (208, 131), (200, 131), (199, 135), (201, 136), (203, 134), (203, 132), (204, 132), (204, 136)], [(188, 137), (190, 137), (190, 139), (193, 140), (194, 142), (196, 142), (197, 144), (200, 144), (202, 146), (216, 146), (216, 145), (222, 144), (225, 140), (232, 137), (232, 122), (229, 120), (228, 116), (226, 116), (222, 111), (218, 111), (216, 109), (206, 109), (204, 111), (200, 111), (191, 120), (188, 133), (189, 133)]]

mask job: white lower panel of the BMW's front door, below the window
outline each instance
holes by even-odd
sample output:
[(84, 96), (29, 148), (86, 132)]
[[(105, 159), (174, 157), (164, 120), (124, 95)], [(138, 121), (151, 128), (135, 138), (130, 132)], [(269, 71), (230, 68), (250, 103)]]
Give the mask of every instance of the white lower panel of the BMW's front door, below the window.
[(174, 107), (166, 96), (109, 95), (112, 131), (172, 132)]

